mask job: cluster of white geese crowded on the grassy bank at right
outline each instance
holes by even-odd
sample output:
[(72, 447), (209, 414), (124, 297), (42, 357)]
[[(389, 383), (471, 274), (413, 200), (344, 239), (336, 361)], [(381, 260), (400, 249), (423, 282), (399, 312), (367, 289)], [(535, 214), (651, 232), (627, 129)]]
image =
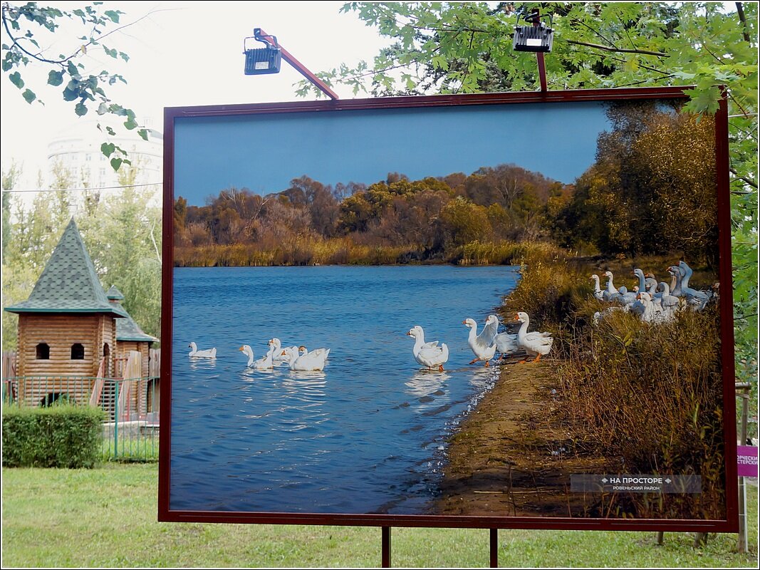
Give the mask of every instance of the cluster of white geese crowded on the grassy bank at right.
[(600, 301), (617, 303), (594, 313), (594, 324), (598, 324), (600, 319), (613, 311), (632, 312), (641, 317), (642, 321), (668, 322), (676, 317), (676, 312), (685, 308), (701, 311), (711, 299), (716, 298), (717, 292), (689, 287), (689, 280), (694, 271), (686, 261), (671, 265), (667, 272), (670, 274), (670, 283), (657, 283), (654, 274), (644, 274), (644, 271), (635, 268), (633, 274), (638, 278), (638, 285), (633, 287), (631, 292), (626, 287), (615, 288), (611, 271), (604, 273), (604, 277), (607, 278), (605, 289), (599, 287), (599, 276), (592, 275), (594, 297)]

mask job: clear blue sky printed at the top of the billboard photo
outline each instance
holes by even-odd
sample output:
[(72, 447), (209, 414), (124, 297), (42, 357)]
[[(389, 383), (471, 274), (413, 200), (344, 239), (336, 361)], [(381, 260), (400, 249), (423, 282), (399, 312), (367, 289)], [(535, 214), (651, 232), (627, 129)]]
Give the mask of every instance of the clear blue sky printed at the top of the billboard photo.
[(323, 184), (470, 174), (514, 163), (573, 182), (610, 128), (600, 102), (530, 103), (178, 118), (174, 195), (202, 205), (224, 188), (280, 192)]

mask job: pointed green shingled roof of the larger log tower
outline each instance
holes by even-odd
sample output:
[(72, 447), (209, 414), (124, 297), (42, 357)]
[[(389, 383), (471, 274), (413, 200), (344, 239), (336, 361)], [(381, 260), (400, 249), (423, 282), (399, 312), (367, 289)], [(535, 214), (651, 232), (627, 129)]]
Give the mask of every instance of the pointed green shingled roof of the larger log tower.
[(74, 218), (66, 226), (29, 299), (5, 307), (5, 310), (17, 313), (106, 312), (129, 316), (122, 306), (109, 302), (106, 297)]

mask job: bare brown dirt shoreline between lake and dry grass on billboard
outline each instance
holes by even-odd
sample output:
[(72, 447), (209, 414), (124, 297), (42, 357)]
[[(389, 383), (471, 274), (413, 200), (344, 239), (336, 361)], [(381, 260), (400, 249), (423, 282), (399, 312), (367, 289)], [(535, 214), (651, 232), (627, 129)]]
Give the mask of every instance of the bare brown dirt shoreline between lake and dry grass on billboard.
[(598, 516), (589, 497), (570, 492), (570, 474), (610, 465), (580, 453), (553, 419), (556, 385), (550, 360), (502, 366), (450, 439), (435, 514)]

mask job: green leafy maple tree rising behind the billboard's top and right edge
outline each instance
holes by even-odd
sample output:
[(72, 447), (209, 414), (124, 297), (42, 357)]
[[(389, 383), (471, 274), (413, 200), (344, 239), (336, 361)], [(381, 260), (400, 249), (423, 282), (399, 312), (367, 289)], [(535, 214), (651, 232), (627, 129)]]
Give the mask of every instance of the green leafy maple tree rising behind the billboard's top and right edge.
[[(348, 2), (391, 46), (373, 62), (318, 73), (375, 95), (538, 90), (536, 57), (514, 52), (515, 3)], [(730, 115), (734, 301), (739, 375), (758, 344), (758, 3), (524, 2), (552, 14), (549, 89), (692, 85), (687, 111)], [(299, 93), (312, 89), (302, 83)]]

